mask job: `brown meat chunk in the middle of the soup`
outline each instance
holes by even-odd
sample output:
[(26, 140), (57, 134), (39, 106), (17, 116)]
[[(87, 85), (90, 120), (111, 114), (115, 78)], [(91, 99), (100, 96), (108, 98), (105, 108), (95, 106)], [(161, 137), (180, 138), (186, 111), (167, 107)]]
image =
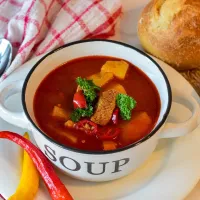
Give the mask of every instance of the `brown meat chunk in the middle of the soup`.
[(91, 117), (91, 121), (105, 126), (111, 119), (113, 110), (116, 106), (116, 90), (107, 90), (101, 94), (97, 104), (97, 109)]

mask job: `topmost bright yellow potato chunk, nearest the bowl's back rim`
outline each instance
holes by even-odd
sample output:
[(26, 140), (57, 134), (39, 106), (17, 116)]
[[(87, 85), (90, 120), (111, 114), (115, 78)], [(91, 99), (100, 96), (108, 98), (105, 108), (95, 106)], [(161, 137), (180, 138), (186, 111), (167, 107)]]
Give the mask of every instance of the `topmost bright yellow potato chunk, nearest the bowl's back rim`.
[(119, 79), (124, 79), (128, 70), (129, 64), (121, 61), (107, 61), (101, 68), (101, 72), (112, 72)]

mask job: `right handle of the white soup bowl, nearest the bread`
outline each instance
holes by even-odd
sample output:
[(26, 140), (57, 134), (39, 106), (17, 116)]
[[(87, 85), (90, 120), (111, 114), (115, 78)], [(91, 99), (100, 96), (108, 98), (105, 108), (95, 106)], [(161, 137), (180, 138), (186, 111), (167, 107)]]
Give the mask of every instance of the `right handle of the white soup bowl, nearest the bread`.
[(189, 110), (192, 112), (192, 116), (187, 121), (181, 123), (166, 122), (160, 134), (160, 138), (174, 138), (184, 136), (192, 132), (198, 126), (200, 107), (199, 103), (192, 95), (189, 96), (178, 90), (173, 90), (173, 102), (180, 103), (189, 108)]

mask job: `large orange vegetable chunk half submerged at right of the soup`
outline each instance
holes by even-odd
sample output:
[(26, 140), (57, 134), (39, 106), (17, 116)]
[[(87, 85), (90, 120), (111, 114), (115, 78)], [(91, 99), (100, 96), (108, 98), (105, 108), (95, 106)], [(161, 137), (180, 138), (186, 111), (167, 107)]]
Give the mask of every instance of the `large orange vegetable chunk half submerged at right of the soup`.
[(146, 112), (134, 113), (132, 119), (124, 126), (121, 138), (125, 143), (135, 142), (146, 135), (152, 125), (152, 119)]

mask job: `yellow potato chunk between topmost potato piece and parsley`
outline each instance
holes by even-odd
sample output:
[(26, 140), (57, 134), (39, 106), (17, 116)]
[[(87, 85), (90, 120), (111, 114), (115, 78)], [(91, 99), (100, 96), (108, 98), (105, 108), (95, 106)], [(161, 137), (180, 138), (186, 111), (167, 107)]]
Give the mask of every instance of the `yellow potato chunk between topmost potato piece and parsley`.
[(93, 83), (99, 87), (104, 86), (113, 78), (114, 78), (114, 75), (111, 72), (93, 74), (90, 77), (88, 77), (88, 79), (92, 80)]

